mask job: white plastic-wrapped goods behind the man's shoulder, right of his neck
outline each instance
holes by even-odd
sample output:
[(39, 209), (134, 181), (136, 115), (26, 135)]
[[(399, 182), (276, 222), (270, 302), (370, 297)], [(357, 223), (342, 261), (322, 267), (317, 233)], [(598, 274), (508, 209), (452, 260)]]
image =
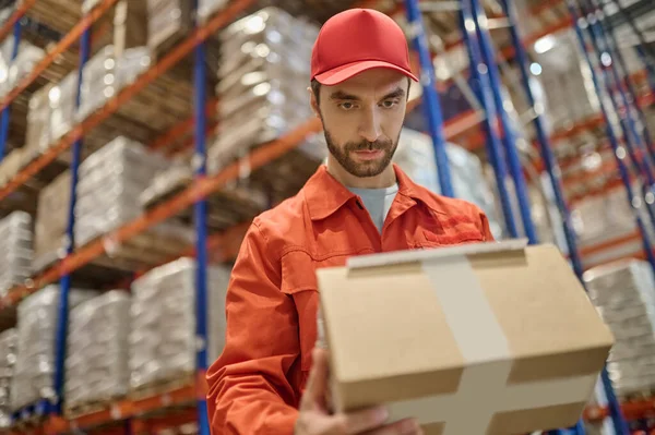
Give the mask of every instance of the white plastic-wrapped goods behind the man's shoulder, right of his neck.
[[(489, 227), (496, 238), (500, 238), (502, 226), (497, 216), (491, 188), (485, 180), (479, 159), (466, 149), (449, 143), (446, 154), (455, 195), (466, 200), (487, 215)], [(430, 136), (416, 130), (403, 129), (394, 161), (424, 188), (440, 193), (439, 173), (434, 160), (434, 148)]]

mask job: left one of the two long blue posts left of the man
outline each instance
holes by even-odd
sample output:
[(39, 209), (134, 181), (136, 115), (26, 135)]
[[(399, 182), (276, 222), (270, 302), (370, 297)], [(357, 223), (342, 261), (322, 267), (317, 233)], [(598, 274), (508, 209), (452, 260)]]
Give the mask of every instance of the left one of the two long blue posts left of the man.
[[(91, 53), (91, 28), (82, 34), (80, 41), (80, 67), (78, 69), (78, 95), (75, 96), (75, 107), (79, 108), (82, 100), (82, 76), (84, 64)], [(78, 188), (78, 168), (82, 155), (82, 140), (73, 144), (73, 158), (71, 161), (71, 200), (68, 208), (68, 222), (66, 227), (66, 254), (70, 255), (75, 246), (74, 227), (75, 227), (75, 202)], [(55, 411), (61, 414), (63, 404), (63, 384), (66, 378), (66, 342), (68, 334), (69, 315), (69, 292), (71, 289), (71, 276), (66, 274), (59, 281), (59, 311), (57, 317), (57, 336), (55, 347), (55, 394), (57, 395)]]

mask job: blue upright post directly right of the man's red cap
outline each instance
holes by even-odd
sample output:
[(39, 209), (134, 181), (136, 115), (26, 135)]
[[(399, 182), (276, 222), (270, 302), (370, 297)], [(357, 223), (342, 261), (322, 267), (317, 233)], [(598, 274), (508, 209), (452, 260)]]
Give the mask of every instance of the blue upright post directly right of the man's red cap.
[(434, 159), (437, 161), (437, 171), (439, 173), (439, 185), (441, 194), (454, 197), (450, 165), (445, 150), (446, 141), (443, 131), (443, 114), (441, 104), (437, 94), (437, 80), (434, 76), (434, 65), (428, 48), (426, 31), (422, 23), (422, 15), (418, 8), (418, 0), (405, 0), (405, 10), (407, 11), (407, 22), (414, 47), (418, 52), (420, 61), (420, 84), (422, 85), (422, 106), (428, 118), (428, 128), (432, 137), (434, 147)]

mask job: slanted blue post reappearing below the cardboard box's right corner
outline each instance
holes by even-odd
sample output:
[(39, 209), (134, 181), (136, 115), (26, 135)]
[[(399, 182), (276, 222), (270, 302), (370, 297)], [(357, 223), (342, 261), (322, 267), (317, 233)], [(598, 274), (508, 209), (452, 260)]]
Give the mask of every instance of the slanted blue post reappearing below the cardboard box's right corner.
[[(509, 0), (500, 0), (501, 5), (508, 16), (508, 21), (510, 23), (510, 34), (512, 37), (514, 50), (516, 53), (516, 60), (519, 64), (519, 70), (521, 71), (521, 81), (523, 87), (525, 89), (525, 94), (527, 96), (527, 100), (531, 107), (535, 107), (536, 99), (533, 94), (532, 86), (529, 85), (529, 72), (527, 67), (527, 55), (525, 52), (525, 47), (523, 46), (523, 41), (521, 40), (521, 36), (519, 35), (517, 29), (517, 17), (516, 11), (510, 5)], [(550, 179), (550, 184), (552, 186), (552, 191), (555, 193), (555, 201), (559, 213), (562, 217), (562, 225), (564, 230), (564, 237), (567, 239), (567, 247), (569, 249), (569, 257), (571, 258), (571, 264), (573, 266), (573, 270), (582, 282), (583, 286), (583, 268), (582, 261), (580, 258), (580, 251), (577, 249), (577, 241), (575, 238), (575, 231), (573, 230), (573, 223), (571, 221), (571, 213), (569, 210), (569, 206), (564, 200), (562, 183), (561, 183), (561, 170), (555, 155), (552, 154), (552, 147), (550, 145), (550, 138), (546, 132), (546, 128), (544, 125), (543, 114), (540, 112), (535, 111), (536, 117), (534, 119), (534, 125), (537, 133), (537, 138), (539, 142), (539, 150), (541, 154), (541, 159), (544, 160), (544, 166), (546, 167), (546, 171), (548, 172), (548, 177)], [(586, 286), (585, 286), (586, 290)], [(610, 414), (615, 427), (615, 432), (617, 435), (628, 435), (630, 432), (628, 431), (628, 424), (623, 419), (620, 403), (618, 402), (609, 377), (607, 375), (607, 371), (603, 371), (602, 374), (603, 385), (605, 387), (605, 391), (608, 398), (608, 404), (610, 409)], [(584, 426), (579, 422), (575, 431), (579, 434), (584, 434)]]

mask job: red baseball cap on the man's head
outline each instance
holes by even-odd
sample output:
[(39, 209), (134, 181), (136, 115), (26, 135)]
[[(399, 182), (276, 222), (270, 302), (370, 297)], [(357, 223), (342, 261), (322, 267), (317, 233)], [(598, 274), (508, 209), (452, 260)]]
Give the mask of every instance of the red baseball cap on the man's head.
[(373, 68), (418, 78), (403, 29), (382, 12), (348, 9), (325, 22), (311, 53), (311, 78), (331, 86)]

